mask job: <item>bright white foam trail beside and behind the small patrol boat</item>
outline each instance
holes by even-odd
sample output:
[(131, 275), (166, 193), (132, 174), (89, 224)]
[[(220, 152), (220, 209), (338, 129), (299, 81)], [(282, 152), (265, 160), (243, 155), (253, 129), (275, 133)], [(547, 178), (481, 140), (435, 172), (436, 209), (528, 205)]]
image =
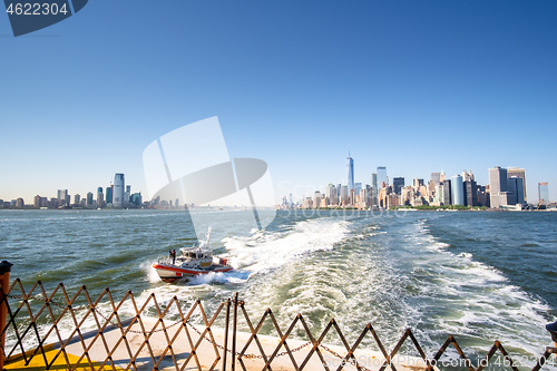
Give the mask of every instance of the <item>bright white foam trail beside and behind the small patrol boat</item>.
[[(214, 297), (213, 301), (204, 301), (204, 305), (217, 305), (219, 300), (231, 295), (231, 285), (234, 291), (247, 290), (245, 284), (254, 275), (265, 276), (265, 273), (313, 252), (332, 250), (335, 243), (348, 235), (349, 225), (345, 221), (322, 218), (297, 222), (283, 232), (253, 231), (250, 236), (225, 237), (223, 243), (227, 253), (219, 256), (228, 257), (235, 270), (225, 273), (212, 272), (188, 282), (160, 284), (160, 279), (150, 264), (146, 263), (141, 269), (148, 272), (150, 282), (159, 283), (155, 291), (162, 303), (177, 296), (178, 300), (193, 304), (196, 297), (202, 296)], [(152, 292), (154, 289), (144, 291), (137, 302), (148, 300)], [(131, 309), (129, 312), (133, 313)]]

